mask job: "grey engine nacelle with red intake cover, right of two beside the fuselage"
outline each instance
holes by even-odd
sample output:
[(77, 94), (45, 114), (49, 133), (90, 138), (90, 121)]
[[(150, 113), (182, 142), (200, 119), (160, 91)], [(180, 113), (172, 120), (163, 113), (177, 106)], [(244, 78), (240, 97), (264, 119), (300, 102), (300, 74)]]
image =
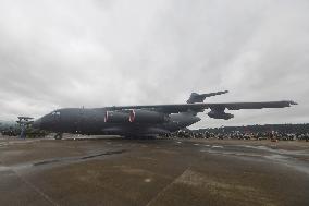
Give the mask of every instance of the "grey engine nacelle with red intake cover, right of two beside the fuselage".
[(157, 111), (133, 109), (129, 111), (128, 121), (132, 123), (163, 123), (169, 121), (169, 117)]

